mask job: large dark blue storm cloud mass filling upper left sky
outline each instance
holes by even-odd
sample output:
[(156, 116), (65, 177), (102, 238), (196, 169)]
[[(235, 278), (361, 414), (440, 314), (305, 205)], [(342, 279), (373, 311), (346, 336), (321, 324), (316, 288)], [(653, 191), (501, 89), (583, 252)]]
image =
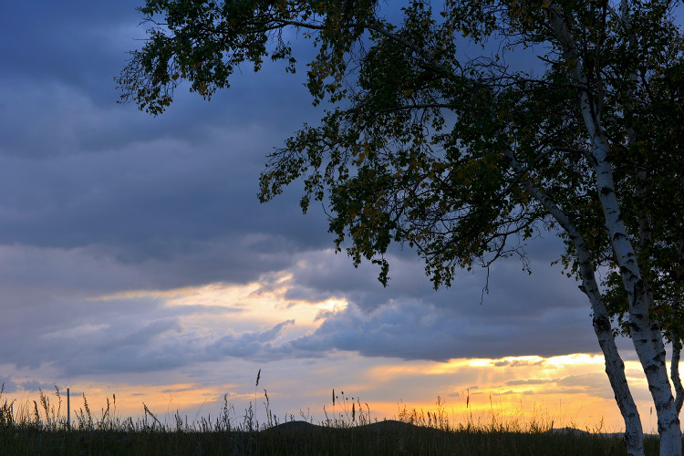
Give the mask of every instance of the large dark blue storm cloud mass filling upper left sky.
[(152, 263), (153, 287), (254, 280), (327, 243), (294, 192), (256, 200), (265, 154), (314, 112), (282, 66), (237, 73), (212, 103), (181, 88), (156, 119), (115, 103), (112, 78), (144, 35), (138, 5), (3, 5), (21, 46), (0, 72), (0, 243), (95, 246)]

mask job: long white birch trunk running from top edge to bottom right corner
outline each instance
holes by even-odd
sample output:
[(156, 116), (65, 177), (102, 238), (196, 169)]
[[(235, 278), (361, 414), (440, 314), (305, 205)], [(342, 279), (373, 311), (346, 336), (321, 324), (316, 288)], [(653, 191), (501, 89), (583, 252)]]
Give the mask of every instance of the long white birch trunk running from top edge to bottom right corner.
[(613, 168), (611, 162), (608, 161), (608, 141), (601, 129), (596, 105), (589, 98), (589, 87), (586, 83), (580, 54), (570, 31), (565, 26), (562, 12), (555, 4), (550, 5), (548, 10), (554, 35), (560, 41), (567, 61), (574, 64), (572, 78), (580, 87), (578, 89), (579, 106), (591, 140), (595, 160), (596, 191), (603, 207), (606, 228), (629, 300), (630, 335), (646, 374), (648, 389), (658, 415), (660, 456), (681, 456), (681, 430), (668, 380), (665, 346), (658, 322), (650, 318), (649, 310), (653, 305), (653, 295), (649, 293), (648, 284), (641, 277), (637, 255), (629, 242), (627, 228), (622, 220), (615, 192)]

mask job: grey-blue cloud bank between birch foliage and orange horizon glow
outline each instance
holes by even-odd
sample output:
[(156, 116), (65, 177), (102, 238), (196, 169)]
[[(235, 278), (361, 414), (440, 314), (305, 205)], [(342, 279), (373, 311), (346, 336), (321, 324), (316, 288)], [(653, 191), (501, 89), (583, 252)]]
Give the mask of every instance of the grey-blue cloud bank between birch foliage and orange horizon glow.
[(545, 260), (531, 259), (532, 275), (520, 271), (515, 261), (492, 266), (490, 294), (482, 305), (482, 271), (462, 275), (451, 289), (435, 292), (419, 262), (391, 256), (389, 261), (395, 264), (396, 278), (383, 288), (369, 264), (355, 269), (344, 255), (297, 255), (288, 298), (316, 302), (334, 295), (353, 306), (326, 315), (316, 333), (293, 347), (407, 359), (598, 350), (586, 296)]

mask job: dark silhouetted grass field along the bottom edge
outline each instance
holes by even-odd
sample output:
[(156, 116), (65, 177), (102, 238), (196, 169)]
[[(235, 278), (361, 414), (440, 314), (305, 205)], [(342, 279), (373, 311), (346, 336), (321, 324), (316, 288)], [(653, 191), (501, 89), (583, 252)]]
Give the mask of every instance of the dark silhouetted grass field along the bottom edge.
[[(581, 430), (552, 431), (553, 424), (503, 423), (492, 414), (487, 423), (468, 420), (451, 425), (438, 400), (437, 411), (403, 409), (397, 420), (371, 422), (360, 402), (347, 398), (341, 412), (314, 424), (305, 420), (278, 422), (268, 411), (266, 423), (254, 420), (252, 406), (242, 420), (224, 398), (214, 419), (188, 423), (176, 413), (172, 424), (161, 423), (143, 404), (144, 418), (116, 416), (116, 397), (102, 416), (93, 419), (88, 401), (72, 416), (70, 428), (57, 389), (56, 405), (42, 391), (38, 401), (18, 407), (2, 402), (0, 391), (0, 455), (624, 455), (618, 435)], [(333, 400), (335, 394), (333, 393)], [(31, 407), (32, 406), (32, 407)], [(440, 407), (441, 406), (441, 407)], [(368, 406), (367, 406), (368, 409)], [(324, 409), (325, 411), (325, 409)], [(658, 438), (647, 437), (647, 454), (658, 454)]]

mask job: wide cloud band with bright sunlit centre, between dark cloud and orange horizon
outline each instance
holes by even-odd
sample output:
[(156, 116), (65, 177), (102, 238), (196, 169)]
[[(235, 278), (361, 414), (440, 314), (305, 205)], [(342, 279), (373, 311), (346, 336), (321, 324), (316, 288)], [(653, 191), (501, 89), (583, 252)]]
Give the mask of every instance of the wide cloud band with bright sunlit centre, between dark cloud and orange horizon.
[[(250, 247), (262, 239), (257, 236), (254, 242), (246, 242), (244, 254), (233, 253), (228, 260), (223, 255), (235, 248), (230, 242), (206, 244), (194, 254), (177, 254), (171, 260), (140, 262), (121, 261), (98, 246), (0, 246), (0, 287), (5, 291), (7, 316), (0, 323), (0, 339), (5, 341), (0, 355), (18, 367), (52, 363), (69, 375), (83, 375), (159, 371), (223, 358), (264, 362), (321, 358), (335, 351), (440, 361), (597, 351), (581, 307), (544, 309), (530, 303), (528, 312), (516, 315), (508, 308), (509, 302), (494, 301), (491, 296), (481, 306), (473, 302), (478, 292), (474, 279), (470, 299), (467, 288), (461, 293), (445, 290), (426, 293), (424, 298), (409, 297), (404, 287), (411, 278), (416, 286), (425, 283), (424, 277), (410, 274), (418, 270), (418, 264), (401, 264), (408, 272), (402, 272), (406, 280), (397, 287), (399, 291), (391, 286), (383, 289), (368, 275), (363, 280), (366, 266), (355, 270), (347, 258), (331, 251), (290, 256), (250, 253)], [(210, 255), (215, 262), (208, 261)], [(326, 258), (331, 261), (326, 263)], [(275, 272), (259, 275), (268, 269)], [(337, 282), (331, 278), (335, 275), (341, 278)], [(358, 284), (354, 275), (362, 279)], [(172, 296), (119, 293), (164, 290), (172, 285), (192, 288), (223, 277), (232, 279), (226, 284), (238, 286), (256, 281), (259, 285), (251, 292), (255, 298), (272, 299), (268, 294), (275, 294), (281, 300), (277, 306), (282, 307), (283, 319), (264, 327), (259, 318), (267, 314), (256, 319), (247, 316), (245, 306), (252, 299), (248, 295), (237, 301), (226, 297), (228, 301), (221, 305), (193, 304), (188, 298), (183, 306), (170, 306)], [(104, 301), (98, 298), (112, 294)], [(461, 297), (463, 302), (450, 302), (450, 297)], [(304, 326), (293, 321), (297, 308), (316, 307), (316, 302), (331, 298), (349, 304), (318, 311), (317, 327), (303, 334), (300, 327)], [(356, 298), (360, 305), (352, 300)], [(27, 343), (16, 347), (11, 342), (20, 339)]]

